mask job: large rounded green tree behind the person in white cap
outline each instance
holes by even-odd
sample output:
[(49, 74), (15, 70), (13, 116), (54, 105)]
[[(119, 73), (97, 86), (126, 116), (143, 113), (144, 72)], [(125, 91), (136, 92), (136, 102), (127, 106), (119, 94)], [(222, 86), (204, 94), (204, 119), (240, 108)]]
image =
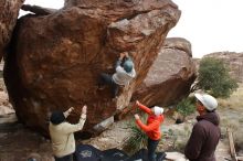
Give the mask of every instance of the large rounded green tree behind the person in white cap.
[(214, 97), (230, 97), (237, 88), (229, 74), (229, 66), (221, 60), (205, 57), (200, 61), (198, 82), (192, 90), (202, 89)]

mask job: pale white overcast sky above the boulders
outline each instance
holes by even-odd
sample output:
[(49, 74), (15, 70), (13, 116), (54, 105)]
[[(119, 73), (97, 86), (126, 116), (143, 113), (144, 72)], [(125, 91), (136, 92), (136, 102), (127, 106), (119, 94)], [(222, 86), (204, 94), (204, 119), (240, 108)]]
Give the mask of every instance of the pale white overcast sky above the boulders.
[[(193, 57), (201, 58), (214, 52), (243, 52), (243, 0), (172, 1), (181, 10), (181, 17), (168, 37), (187, 39)], [(63, 7), (63, 0), (25, 0), (24, 3)]]

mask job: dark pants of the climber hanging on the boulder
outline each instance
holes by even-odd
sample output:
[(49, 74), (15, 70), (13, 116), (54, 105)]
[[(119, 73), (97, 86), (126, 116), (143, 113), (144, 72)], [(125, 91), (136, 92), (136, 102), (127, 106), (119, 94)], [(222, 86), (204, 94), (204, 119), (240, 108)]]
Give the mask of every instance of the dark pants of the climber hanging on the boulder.
[(102, 73), (98, 80), (98, 86), (109, 85), (112, 87), (112, 95), (113, 98), (115, 98), (118, 95), (119, 92), (119, 85), (117, 85), (112, 75), (108, 75), (106, 73)]

